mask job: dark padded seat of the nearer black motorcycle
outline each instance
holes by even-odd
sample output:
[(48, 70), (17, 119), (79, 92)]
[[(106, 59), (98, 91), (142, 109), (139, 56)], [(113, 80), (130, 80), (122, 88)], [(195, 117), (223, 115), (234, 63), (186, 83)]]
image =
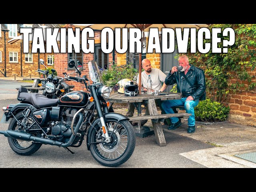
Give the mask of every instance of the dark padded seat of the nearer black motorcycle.
[[(24, 92), (22, 92), (24, 91)], [(49, 99), (40, 93), (28, 93), (25, 89), (20, 88), (19, 96), (23, 102), (32, 104), (35, 108), (56, 106), (59, 99)]]

